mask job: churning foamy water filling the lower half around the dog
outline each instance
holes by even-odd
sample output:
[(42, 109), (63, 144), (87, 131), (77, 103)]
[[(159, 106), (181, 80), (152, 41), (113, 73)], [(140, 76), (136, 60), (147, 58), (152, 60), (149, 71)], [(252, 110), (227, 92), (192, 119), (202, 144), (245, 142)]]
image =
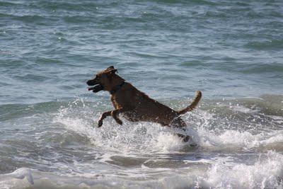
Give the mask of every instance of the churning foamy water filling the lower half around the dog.
[(111, 106), (83, 98), (17, 105), (30, 115), (13, 118), (18, 129), (2, 129), (1, 168), (11, 171), (1, 188), (281, 188), (283, 118), (265, 115), (267, 99), (202, 101), (183, 116), (189, 143), (149, 122), (108, 118), (97, 128)]

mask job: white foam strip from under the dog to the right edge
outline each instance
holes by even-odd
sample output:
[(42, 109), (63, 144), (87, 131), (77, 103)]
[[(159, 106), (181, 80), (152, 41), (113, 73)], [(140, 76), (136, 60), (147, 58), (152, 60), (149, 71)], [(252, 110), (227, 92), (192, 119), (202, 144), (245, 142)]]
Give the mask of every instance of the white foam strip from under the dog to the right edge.
[[(83, 106), (84, 107), (84, 106)], [(192, 127), (187, 127), (185, 133), (183, 130), (169, 127), (161, 127), (151, 122), (128, 122), (123, 120), (123, 125), (117, 123), (111, 118), (104, 120), (103, 126), (96, 127), (96, 121), (86, 119), (88, 115), (74, 116), (72, 108), (62, 108), (60, 113), (54, 119), (60, 122), (69, 130), (74, 130), (83, 134), (93, 142), (96, 147), (108, 147), (114, 151), (129, 152), (139, 151), (149, 152), (149, 149), (159, 152), (178, 151), (188, 144), (197, 144), (206, 149), (252, 149), (270, 146), (270, 144), (281, 144), (283, 142), (283, 132), (262, 132), (252, 134), (249, 131), (224, 130), (215, 134), (207, 129), (211, 121), (214, 121), (214, 115), (205, 111), (199, 111), (202, 122), (195, 122)], [(246, 110), (245, 110), (246, 112)], [(98, 115), (93, 117), (98, 120)], [(187, 120), (187, 118), (185, 118)], [(190, 142), (184, 143), (175, 133), (190, 135)]]

